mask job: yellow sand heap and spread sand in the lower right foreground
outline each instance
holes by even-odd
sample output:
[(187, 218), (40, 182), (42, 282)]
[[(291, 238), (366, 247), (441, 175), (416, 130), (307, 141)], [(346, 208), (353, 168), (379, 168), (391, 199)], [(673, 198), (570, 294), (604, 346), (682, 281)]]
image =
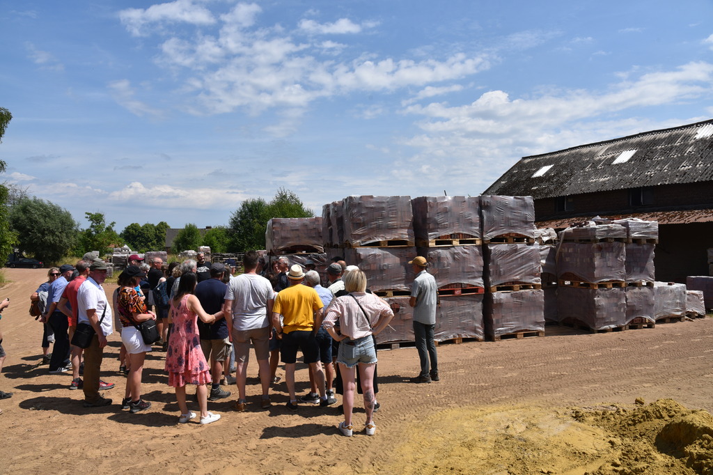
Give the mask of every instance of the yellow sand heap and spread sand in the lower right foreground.
[(629, 408), (449, 409), (414, 423), (409, 434), (389, 471), (672, 475), (713, 469), (713, 417), (672, 399)]

